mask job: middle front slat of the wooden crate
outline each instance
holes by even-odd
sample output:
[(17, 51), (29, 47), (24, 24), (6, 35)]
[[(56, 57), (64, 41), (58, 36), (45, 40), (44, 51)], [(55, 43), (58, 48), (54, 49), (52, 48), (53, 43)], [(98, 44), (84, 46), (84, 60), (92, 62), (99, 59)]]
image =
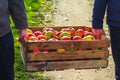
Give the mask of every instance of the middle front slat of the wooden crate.
[(92, 58), (108, 58), (108, 50), (86, 50), (86, 51), (75, 51), (75, 52), (62, 52), (62, 53), (37, 53), (28, 54), (28, 61), (53, 61), (53, 60), (72, 60), (72, 59), (92, 59)]

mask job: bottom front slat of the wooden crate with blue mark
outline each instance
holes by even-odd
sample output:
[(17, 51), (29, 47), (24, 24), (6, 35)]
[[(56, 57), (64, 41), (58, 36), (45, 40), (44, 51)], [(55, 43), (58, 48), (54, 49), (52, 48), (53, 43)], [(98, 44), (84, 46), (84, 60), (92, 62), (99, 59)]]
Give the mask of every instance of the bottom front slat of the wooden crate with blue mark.
[(26, 63), (26, 71), (105, 68), (108, 60), (79, 60)]

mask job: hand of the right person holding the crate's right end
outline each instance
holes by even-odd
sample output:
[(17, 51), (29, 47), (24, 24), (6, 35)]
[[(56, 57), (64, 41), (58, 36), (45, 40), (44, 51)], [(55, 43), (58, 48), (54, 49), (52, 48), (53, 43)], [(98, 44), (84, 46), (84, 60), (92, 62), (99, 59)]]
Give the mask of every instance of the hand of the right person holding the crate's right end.
[(96, 39), (98, 40), (105, 40), (106, 35), (103, 29), (92, 29), (92, 32)]

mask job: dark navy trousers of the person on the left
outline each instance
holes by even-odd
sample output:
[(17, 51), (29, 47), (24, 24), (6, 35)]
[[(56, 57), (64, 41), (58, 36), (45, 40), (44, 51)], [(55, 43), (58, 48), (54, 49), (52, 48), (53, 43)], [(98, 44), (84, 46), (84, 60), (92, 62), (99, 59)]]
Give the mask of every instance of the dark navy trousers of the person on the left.
[(0, 37), (0, 79), (14, 80), (14, 40), (12, 32)]

